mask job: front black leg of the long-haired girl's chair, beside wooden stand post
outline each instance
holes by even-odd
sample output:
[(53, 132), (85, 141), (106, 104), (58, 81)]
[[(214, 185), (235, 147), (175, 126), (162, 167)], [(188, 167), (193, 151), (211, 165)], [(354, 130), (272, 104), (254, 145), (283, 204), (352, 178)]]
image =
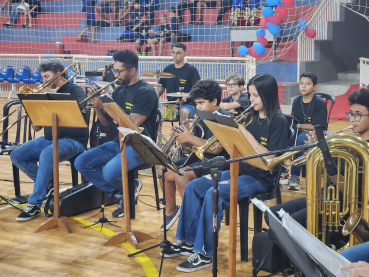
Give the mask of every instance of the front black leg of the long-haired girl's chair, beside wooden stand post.
[(241, 262), (247, 262), (249, 260), (249, 202), (242, 201), (238, 204), (240, 211), (240, 251), (241, 251)]

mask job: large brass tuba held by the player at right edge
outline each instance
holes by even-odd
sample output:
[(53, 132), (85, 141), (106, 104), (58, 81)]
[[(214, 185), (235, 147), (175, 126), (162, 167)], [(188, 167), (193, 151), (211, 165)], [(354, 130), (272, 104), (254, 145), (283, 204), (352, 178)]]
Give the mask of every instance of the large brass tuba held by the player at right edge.
[[(323, 243), (327, 242), (327, 232), (339, 232), (344, 218), (358, 209), (359, 203), (368, 203), (369, 176), (365, 169), (369, 166), (369, 143), (352, 134), (332, 134), (326, 138), (332, 157), (337, 158), (337, 171), (341, 172), (341, 161), (344, 175), (338, 180), (337, 187), (327, 183), (323, 154), (318, 147), (309, 150), (306, 156), (306, 206), (307, 230)], [(351, 151), (354, 151), (354, 155)], [(362, 164), (359, 165), (359, 157)], [(359, 199), (358, 175), (362, 173), (361, 199)], [(343, 185), (343, 197), (340, 200), (338, 186)], [(322, 218), (320, 225), (319, 216)], [(369, 219), (369, 211), (364, 210), (362, 218)], [(349, 242), (337, 252), (357, 243), (351, 234)]]

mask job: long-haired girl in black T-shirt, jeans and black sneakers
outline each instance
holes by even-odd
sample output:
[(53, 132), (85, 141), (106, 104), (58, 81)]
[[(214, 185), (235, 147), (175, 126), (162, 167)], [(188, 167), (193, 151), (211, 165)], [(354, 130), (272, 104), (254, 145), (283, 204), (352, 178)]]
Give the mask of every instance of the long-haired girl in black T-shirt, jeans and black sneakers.
[[(247, 90), (253, 120), (246, 129), (239, 125), (251, 146), (258, 153), (287, 147), (288, 123), (280, 111), (278, 86), (274, 77), (261, 73), (250, 79)], [(245, 121), (249, 122), (250, 116)], [(226, 134), (225, 134), (226, 135)], [(274, 158), (274, 155), (267, 158)], [(278, 168), (274, 173), (264, 171), (246, 163), (240, 163), (238, 177), (238, 199), (274, 189)], [(177, 265), (177, 270), (192, 272), (212, 266), (213, 227), (212, 227), (213, 180), (204, 176), (189, 182), (186, 186), (182, 211), (179, 217), (175, 242), (169, 250), (161, 252), (165, 257), (191, 255), (187, 261)], [(223, 210), (230, 205), (230, 172), (223, 171), (219, 179), (218, 230), (223, 218)]]

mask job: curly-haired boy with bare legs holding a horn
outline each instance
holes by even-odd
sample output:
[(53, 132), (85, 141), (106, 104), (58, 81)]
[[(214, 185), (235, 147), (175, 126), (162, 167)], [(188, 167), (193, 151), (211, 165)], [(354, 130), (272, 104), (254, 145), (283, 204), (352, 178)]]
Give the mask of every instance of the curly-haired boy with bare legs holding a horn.
[[(214, 80), (201, 80), (199, 81), (191, 90), (190, 97), (196, 103), (196, 108), (200, 111), (209, 111), (215, 112), (218, 111), (221, 114), (228, 114), (225, 110), (219, 108), (219, 103), (222, 95), (222, 89), (219, 86), (218, 82)], [(200, 119), (198, 123), (201, 125), (204, 135), (201, 138), (202, 130), (198, 126), (194, 126), (193, 135), (189, 133), (186, 126), (182, 126), (184, 131), (175, 133), (174, 136), (178, 143), (181, 143), (184, 146), (184, 149), (191, 149), (192, 146), (203, 146), (207, 139), (213, 136), (213, 133), (206, 126), (206, 124)], [(172, 131), (175, 131), (177, 126), (172, 128)], [(173, 133), (172, 133), (173, 135)], [(228, 156), (227, 152), (221, 147), (220, 149), (215, 149), (213, 151), (212, 148), (205, 153), (205, 157), (207, 159), (214, 158), (215, 156), (222, 155)], [(188, 150), (190, 152), (192, 150)], [(186, 161), (187, 157), (174, 161), (177, 166), (181, 166)], [(187, 161), (187, 165), (193, 164), (195, 162), (200, 162), (200, 159), (192, 153), (191, 157)], [(162, 169), (160, 169), (159, 174), (162, 174)], [(194, 170), (194, 171), (186, 171), (184, 176), (179, 176), (177, 173), (173, 171), (168, 171), (165, 174), (165, 197), (166, 197), (166, 208), (167, 208), (167, 218), (166, 218), (166, 228), (167, 230), (174, 224), (177, 220), (180, 213), (180, 206), (176, 205), (176, 189), (178, 189), (179, 195), (183, 197), (183, 193), (186, 187), (186, 184), (191, 180), (196, 178), (200, 178), (203, 175), (207, 175), (210, 173), (210, 170)], [(160, 182), (161, 185), (163, 185)], [(162, 231), (164, 231), (164, 225), (160, 227)]]

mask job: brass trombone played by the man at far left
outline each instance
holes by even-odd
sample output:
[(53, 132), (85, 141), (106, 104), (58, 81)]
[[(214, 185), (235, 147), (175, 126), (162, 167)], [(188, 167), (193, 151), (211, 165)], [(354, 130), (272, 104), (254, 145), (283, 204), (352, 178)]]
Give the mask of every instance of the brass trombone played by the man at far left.
[[(68, 66), (67, 68), (65, 68), (62, 72), (59, 72), (58, 74), (56, 74), (53, 78), (51, 78), (49, 81), (47, 81), (46, 83), (43, 83), (42, 85), (39, 85), (37, 88), (35, 89), (31, 89), (30, 87), (27, 86), (21, 86), (19, 88), (19, 93), (21, 94), (30, 94), (30, 93), (40, 93), (41, 91), (43, 91), (45, 88), (47, 88), (52, 82), (54, 82), (57, 78), (59, 78), (60, 76), (63, 76), (66, 72), (69, 71), (69, 69), (73, 68), (73, 75), (71, 77), (68, 78), (68, 80), (66, 80), (60, 87), (64, 86), (65, 84), (67, 84), (70, 80), (72, 80), (74, 77), (76, 77), (80, 70), (81, 70), (81, 64), (80, 63), (74, 63), (70, 66)], [(18, 111), (20, 108), (22, 107), (22, 105), (19, 105), (19, 107), (15, 108), (12, 112), (10, 112), (7, 116), (5, 116), (3, 119), (0, 120), (0, 122), (3, 122), (5, 119), (7, 119), (9, 116), (11, 116), (13, 113), (15, 113), (16, 111)], [(5, 132), (7, 132), (11, 127), (13, 127), (15, 124), (17, 124), (18, 121), (22, 120), (24, 117), (27, 116), (27, 113), (25, 113), (23, 116), (21, 116), (20, 118), (18, 118), (13, 124), (11, 124), (10, 126), (8, 126), (1, 134), (0, 136), (2, 136)]]

